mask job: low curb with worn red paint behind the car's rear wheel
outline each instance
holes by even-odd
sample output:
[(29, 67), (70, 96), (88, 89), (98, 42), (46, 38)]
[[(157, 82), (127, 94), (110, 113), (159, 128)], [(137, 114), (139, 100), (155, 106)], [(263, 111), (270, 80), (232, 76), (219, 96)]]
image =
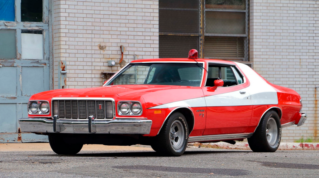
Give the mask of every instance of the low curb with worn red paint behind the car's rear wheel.
[[(189, 147), (208, 147), (208, 148), (219, 148), (219, 149), (242, 149), (250, 150), (248, 142), (237, 142), (235, 145), (218, 142), (218, 143), (190, 143)], [(293, 142), (282, 142), (279, 145), (279, 150), (319, 150), (319, 143), (293, 143)]]

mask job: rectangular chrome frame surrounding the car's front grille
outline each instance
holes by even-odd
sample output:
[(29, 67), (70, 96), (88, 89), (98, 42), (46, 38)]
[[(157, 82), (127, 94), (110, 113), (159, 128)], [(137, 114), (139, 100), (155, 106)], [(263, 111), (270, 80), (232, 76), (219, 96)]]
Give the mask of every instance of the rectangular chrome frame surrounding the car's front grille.
[[(116, 115), (116, 110), (115, 110), (115, 100), (113, 98), (86, 98), (86, 97), (55, 97), (51, 99), (51, 107), (53, 107), (53, 101), (55, 100), (101, 100), (101, 101), (112, 101), (112, 109), (113, 109), (113, 116), (110, 119), (95, 119), (95, 120), (112, 120), (114, 119), (115, 115)], [(51, 118), (53, 119), (53, 109), (51, 109)], [(60, 119), (60, 118), (59, 118)], [(60, 120), (73, 120), (73, 119), (64, 119), (61, 118)], [(88, 119), (74, 119), (74, 120), (88, 120)]]

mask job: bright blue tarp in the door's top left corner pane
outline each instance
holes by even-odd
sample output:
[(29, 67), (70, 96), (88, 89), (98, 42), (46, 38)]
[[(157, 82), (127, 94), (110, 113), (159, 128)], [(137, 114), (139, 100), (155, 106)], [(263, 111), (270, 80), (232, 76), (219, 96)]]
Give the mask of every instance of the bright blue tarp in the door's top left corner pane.
[(0, 0), (0, 20), (15, 21), (14, 0)]

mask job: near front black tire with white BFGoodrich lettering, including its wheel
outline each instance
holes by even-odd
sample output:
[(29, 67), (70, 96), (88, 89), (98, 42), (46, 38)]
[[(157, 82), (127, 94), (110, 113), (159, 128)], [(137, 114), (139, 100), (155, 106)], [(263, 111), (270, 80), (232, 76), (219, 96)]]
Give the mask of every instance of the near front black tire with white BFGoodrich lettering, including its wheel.
[[(182, 130), (176, 129), (179, 124), (181, 124), (179, 127)], [(174, 131), (171, 132), (172, 127), (172, 130)], [(180, 136), (176, 137), (176, 135)], [(154, 151), (163, 156), (181, 156), (186, 150), (188, 135), (188, 124), (184, 115), (180, 112), (175, 112), (167, 118), (159, 134), (154, 137), (153, 144), (151, 146)], [(173, 141), (171, 139), (173, 139)]]

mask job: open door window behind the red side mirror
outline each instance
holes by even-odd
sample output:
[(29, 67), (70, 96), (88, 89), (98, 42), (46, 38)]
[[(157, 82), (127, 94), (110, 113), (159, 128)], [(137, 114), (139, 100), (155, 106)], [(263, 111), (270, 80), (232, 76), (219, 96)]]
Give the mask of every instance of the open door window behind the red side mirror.
[(223, 80), (224, 87), (237, 85), (236, 78), (230, 66), (209, 65), (205, 86), (214, 86), (215, 80)]

